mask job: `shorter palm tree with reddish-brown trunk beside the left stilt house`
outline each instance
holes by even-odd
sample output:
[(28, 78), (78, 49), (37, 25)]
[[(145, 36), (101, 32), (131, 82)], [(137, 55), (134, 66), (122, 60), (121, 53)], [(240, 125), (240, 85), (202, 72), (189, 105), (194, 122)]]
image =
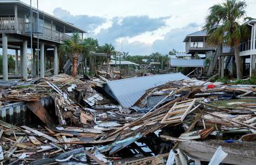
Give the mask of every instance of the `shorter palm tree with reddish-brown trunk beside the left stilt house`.
[(68, 54), (72, 61), (72, 77), (77, 77), (78, 59), (85, 51), (79, 33), (74, 33), (69, 40), (65, 40), (61, 44), (60, 50), (62, 54)]

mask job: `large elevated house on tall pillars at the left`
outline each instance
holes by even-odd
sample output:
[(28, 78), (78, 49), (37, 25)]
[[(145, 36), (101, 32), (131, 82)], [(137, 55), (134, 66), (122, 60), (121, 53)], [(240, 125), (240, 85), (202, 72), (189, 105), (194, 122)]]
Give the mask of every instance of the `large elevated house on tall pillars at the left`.
[[(32, 16), (32, 17), (31, 17)], [(45, 76), (46, 62), (58, 74), (58, 47), (70, 34), (86, 33), (71, 23), (37, 10), (18, 0), (0, 1), (0, 46), (2, 47), (2, 78), (8, 80), (7, 50), (15, 50), (15, 75), (28, 78), (28, 49), (32, 49), (32, 75), (39, 69)], [(32, 34), (32, 40), (30, 38)], [(39, 45), (38, 45), (39, 43)], [(37, 59), (37, 54), (39, 60)], [(38, 68), (37, 68), (38, 67)]]

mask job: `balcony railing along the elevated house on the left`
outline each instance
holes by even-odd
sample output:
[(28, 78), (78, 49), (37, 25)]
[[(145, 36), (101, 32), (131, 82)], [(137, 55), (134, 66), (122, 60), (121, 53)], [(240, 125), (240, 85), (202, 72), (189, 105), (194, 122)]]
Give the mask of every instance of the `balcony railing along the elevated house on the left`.
[[(26, 27), (26, 23), (25, 23), (25, 20), (23, 19), (18, 18), (17, 23), (15, 23), (14, 17), (0, 17), (0, 30), (20, 30), (22, 31), (22, 33), (26, 33), (25, 27)], [(29, 29), (30, 28), (27, 25), (27, 31), (29, 31)], [(54, 40), (54, 41), (63, 41), (70, 38), (69, 35), (62, 32), (58, 32), (56, 30), (51, 30), (51, 28), (43, 27), (42, 31), (43, 33), (39, 35), (39, 38)]]

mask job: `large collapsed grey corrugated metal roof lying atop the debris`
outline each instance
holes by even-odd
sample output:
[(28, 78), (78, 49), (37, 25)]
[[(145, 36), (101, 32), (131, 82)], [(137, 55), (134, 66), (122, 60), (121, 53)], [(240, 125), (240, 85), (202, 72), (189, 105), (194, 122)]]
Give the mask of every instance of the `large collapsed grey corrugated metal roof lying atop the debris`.
[(150, 75), (110, 81), (108, 82), (108, 87), (123, 108), (130, 108), (149, 88), (176, 80), (186, 80), (188, 78), (180, 73)]

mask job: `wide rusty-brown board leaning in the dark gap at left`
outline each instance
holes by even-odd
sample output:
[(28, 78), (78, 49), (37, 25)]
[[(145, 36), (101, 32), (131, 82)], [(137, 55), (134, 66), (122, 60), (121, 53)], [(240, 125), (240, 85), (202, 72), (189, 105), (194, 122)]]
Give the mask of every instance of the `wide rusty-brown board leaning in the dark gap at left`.
[(40, 101), (27, 102), (27, 108), (30, 109), (45, 124), (53, 124), (51, 116), (46, 111), (46, 109), (41, 105)]

